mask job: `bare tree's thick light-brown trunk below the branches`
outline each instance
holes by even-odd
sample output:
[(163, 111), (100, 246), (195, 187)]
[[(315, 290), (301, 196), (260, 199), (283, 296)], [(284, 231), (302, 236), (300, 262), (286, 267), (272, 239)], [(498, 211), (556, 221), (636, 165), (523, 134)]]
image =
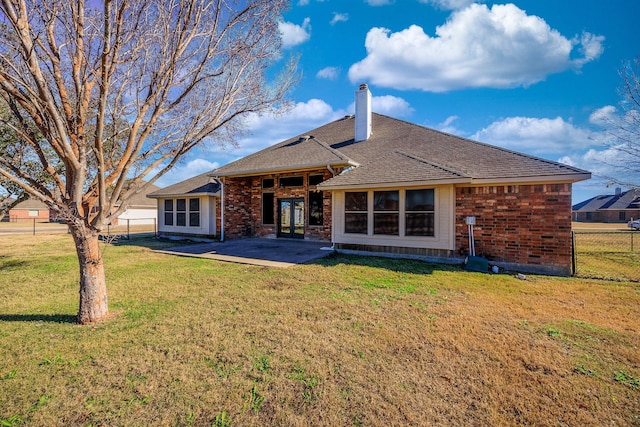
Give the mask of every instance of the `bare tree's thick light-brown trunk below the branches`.
[(78, 323), (88, 325), (103, 320), (108, 312), (107, 281), (98, 233), (83, 225), (69, 223), (80, 263), (80, 306)]

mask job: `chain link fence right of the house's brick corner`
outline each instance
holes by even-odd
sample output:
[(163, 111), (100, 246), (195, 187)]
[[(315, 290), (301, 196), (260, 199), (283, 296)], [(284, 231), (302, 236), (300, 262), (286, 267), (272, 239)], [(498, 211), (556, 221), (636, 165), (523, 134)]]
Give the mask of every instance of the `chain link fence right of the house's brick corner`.
[(640, 281), (640, 232), (574, 231), (576, 276)]

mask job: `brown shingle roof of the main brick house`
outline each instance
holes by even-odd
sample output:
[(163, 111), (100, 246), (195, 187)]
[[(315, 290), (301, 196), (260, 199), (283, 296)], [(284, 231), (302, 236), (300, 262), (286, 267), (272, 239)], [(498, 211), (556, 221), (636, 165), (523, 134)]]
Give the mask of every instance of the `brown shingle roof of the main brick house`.
[[(589, 172), (569, 165), (381, 114), (372, 114), (373, 133), (369, 139), (356, 142), (354, 129), (355, 117), (345, 116), (201, 177), (345, 167), (346, 172), (320, 185), (325, 189), (416, 182), (576, 182), (591, 177)], [(206, 178), (192, 178), (169, 188), (187, 192), (200, 182), (206, 182)]]

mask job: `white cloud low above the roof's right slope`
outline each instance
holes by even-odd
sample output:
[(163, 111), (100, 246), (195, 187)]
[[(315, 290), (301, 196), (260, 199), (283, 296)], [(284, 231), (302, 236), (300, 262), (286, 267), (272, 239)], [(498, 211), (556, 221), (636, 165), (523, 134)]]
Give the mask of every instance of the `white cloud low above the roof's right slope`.
[(529, 154), (555, 154), (586, 150), (599, 144), (602, 135), (555, 119), (508, 117), (491, 123), (471, 139)]

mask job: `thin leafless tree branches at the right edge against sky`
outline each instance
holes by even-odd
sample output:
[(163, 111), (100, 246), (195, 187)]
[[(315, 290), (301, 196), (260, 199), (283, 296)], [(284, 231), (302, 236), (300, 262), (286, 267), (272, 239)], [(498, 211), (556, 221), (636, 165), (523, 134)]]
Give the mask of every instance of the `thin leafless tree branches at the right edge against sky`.
[(618, 73), (622, 80), (620, 109), (609, 107), (597, 117), (609, 136), (606, 145), (615, 153), (615, 160), (605, 156), (601, 161), (615, 171), (615, 176), (606, 176), (610, 185), (640, 188), (640, 56), (625, 62)]

